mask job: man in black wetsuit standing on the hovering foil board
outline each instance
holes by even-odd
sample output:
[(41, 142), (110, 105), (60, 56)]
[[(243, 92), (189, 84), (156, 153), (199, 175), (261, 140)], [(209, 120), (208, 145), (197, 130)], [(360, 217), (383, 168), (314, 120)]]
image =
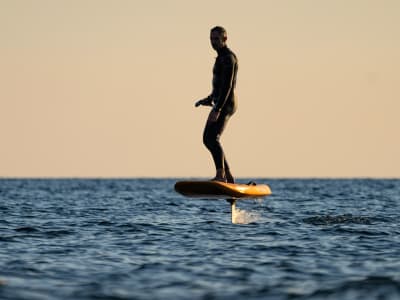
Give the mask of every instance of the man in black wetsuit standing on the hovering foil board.
[(197, 101), (195, 106), (213, 107), (203, 134), (203, 143), (211, 152), (216, 168), (216, 175), (212, 180), (234, 183), (235, 180), (219, 141), (229, 118), (236, 111), (234, 89), (238, 61), (236, 55), (227, 47), (226, 40), (227, 34), (223, 27), (216, 26), (211, 29), (211, 46), (218, 53), (213, 68), (212, 93)]

